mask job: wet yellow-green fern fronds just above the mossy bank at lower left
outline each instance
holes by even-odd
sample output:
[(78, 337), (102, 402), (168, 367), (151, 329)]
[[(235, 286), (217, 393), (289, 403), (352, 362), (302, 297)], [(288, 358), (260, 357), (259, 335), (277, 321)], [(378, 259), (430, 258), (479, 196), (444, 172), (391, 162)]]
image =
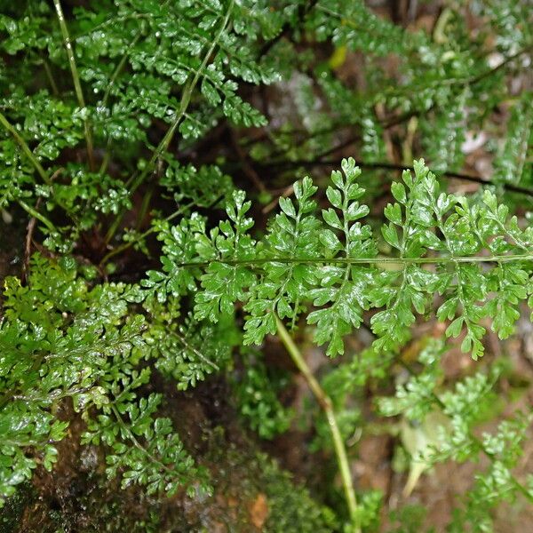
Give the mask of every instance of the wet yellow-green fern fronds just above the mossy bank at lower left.
[[(107, 473), (121, 473), (123, 486), (137, 482), (149, 493), (175, 492), (203, 479), (173, 433), (157, 418), (158, 394), (140, 388), (150, 370), (146, 320), (132, 313), (139, 290), (124, 283), (91, 289), (76, 262), (34, 256), (28, 284), (7, 278), (2, 346), (3, 428), (1, 497), (31, 478), (37, 464), (50, 470), (55, 444), (67, 436), (68, 409), (87, 422), (83, 442), (108, 449)], [(31, 454), (28, 454), (31, 448)]]

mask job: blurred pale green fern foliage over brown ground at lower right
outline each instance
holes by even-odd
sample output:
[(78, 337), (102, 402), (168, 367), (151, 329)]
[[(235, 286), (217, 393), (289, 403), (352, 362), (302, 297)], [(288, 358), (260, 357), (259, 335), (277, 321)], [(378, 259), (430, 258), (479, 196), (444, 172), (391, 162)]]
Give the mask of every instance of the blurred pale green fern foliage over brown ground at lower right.
[[(426, 348), (420, 354), (420, 362), (425, 362), (428, 354)], [(431, 359), (433, 362), (421, 373), (413, 373), (405, 385), (397, 387), (394, 397), (379, 399), (379, 409), (385, 416), (402, 415), (417, 426), (435, 410), (440, 413), (434, 418), (437, 420), (434, 430), (441, 434), (438, 443), (430, 442), (424, 449), (418, 449), (419, 457), (411, 457), (412, 461), (423, 460), (428, 467), (449, 459), (458, 462), (479, 460), (480, 456), (489, 459), (489, 466), (475, 474), (473, 487), (466, 493), (449, 529), (465, 530), (465, 524), (469, 524), (473, 531), (491, 531), (491, 511), (496, 505), (513, 502), (519, 496), (532, 500), (529, 489), (513, 475), (513, 468), (523, 454), (522, 445), (532, 415), (517, 411), (512, 418), (500, 422), (493, 433), (483, 432), (478, 437), (475, 430), (483, 411), (494, 407), (497, 369), (492, 376), (479, 371), (458, 381), (453, 389), (442, 390), (438, 380), (442, 375), (440, 359), (434, 356)]]

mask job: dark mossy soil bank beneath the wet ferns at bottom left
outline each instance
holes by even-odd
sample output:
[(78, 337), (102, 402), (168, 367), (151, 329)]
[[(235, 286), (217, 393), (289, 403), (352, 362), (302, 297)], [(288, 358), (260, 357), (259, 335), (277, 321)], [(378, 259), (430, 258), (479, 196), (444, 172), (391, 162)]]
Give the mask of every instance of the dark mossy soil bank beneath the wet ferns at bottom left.
[[(235, 435), (234, 435), (235, 436)], [(205, 431), (203, 457), (213, 495), (147, 497), (139, 488), (120, 489), (102, 472), (103, 454), (84, 472), (87, 448), (61, 449), (61, 468), (38, 469), (34, 485), (8, 499), (0, 533), (327, 533), (337, 529), (334, 513), (317, 503), (290, 473), (242, 439), (228, 442), (216, 427)], [(64, 442), (66, 444), (66, 442)]]

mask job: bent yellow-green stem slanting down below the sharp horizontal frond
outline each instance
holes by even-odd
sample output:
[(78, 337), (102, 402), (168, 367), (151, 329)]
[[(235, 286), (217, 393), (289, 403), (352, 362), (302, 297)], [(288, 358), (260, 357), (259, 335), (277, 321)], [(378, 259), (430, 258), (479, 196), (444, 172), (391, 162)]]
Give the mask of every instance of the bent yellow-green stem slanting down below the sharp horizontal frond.
[(346, 448), (342, 435), (338, 429), (337, 418), (335, 418), (335, 412), (333, 410), (333, 404), (330, 396), (328, 396), (316, 378), (314, 378), (313, 372), (307, 366), (306, 360), (302, 357), (298, 350), (298, 346), (294, 344), (294, 341), (289, 335), (289, 331), (285, 329), (283, 322), (275, 316), (275, 322), (277, 325), (278, 335), (282, 340), (283, 346), (290, 354), (290, 358), (298, 367), (298, 370), (302, 373), (309, 388), (314, 394), (317, 402), (320, 404), (328, 420), (328, 426), (330, 426), (331, 437), (333, 439), (333, 447), (337, 456), (338, 469), (342, 477), (342, 483), (345, 491), (346, 504), (348, 505), (348, 511), (350, 513), (350, 520), (353, 526), (353, 533), (361, 533), (361, 526), (359, 525), (357, 499), (355, 497), (354, 484), (352, 482), (352, 474), (350, 473), (350, 465), (348, 464), (348, 457), (346, 455)]

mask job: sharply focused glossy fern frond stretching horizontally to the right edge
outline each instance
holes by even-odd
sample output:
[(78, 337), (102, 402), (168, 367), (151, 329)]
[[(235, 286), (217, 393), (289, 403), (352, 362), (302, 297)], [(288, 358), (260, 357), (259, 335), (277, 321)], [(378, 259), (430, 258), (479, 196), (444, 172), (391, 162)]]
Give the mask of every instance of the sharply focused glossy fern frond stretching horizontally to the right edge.
[[(314, 215), (309, 198), (315, 187), (306, 178), (294, 185), (298, 211), (282, 199), (282, 213), (264, 243), (255, 243), (247, 233), (250, 203), (235, 193), (234, 206), (227, 207), (229, 219), (209, 235), (199, 217), (191, 219), (192, 226), (171, 230), (175, 237), (167, 240), (162, 259), (166, 273), (149, 274), (145, 284), (153, 290), (157, 279), (157, 286), (168, 290), (187, 280), (196, 289), (195, 317), (200, 320), (217, 322), (220, 315), (233, 313), (236, 301), (245, 303), (251, 313), (246, 343), (259, 344), (274, 332), (274, 313), (294, 323), (300, 308), (312, 302), (317, 309), (306, 321), (316, 324), (315, 342), (328, 343), (327, 354), (344, 352), (342, 338), (370, 308), (381, 309), (371, 319), (375, 346), (394, 349), (409, 338), (415, 313), (428, 313), (435, 293), (444, 300), (436, 309), (438, 319), (451, 321), (447, 337), (465, 331), (461, 348), (474, 359), (484, 351), (485, 317), (494, 319), (492, 329), (500, 338), (508, 337), (520, 315), (516, 306), (530, 293), (533, 228), (519, 227), (489, 191), (481, 203), (441, 193), (434, 174), (418, 161), (415, 175), (405, 171), (403, 183), (392, 188), (397, 202), (386, 206), (389, 222), (381, 233), (396, 255), (382, 259), (378, 237), (358, 221), (369, 212), (356, 201), (364, 193), (354, 181), (360, 171), (353, 159), (342, 166), (344, 178), (338, 171), (331, 174), (334, 187), (326, 194), (332, 207), (322, 210), (322, 220)], [(191, 243), (185, 257), (183, 243)], [(289, 255), (290, 250), (298, 255)], [(384, 271), (380, 264), (393, 268)]]

